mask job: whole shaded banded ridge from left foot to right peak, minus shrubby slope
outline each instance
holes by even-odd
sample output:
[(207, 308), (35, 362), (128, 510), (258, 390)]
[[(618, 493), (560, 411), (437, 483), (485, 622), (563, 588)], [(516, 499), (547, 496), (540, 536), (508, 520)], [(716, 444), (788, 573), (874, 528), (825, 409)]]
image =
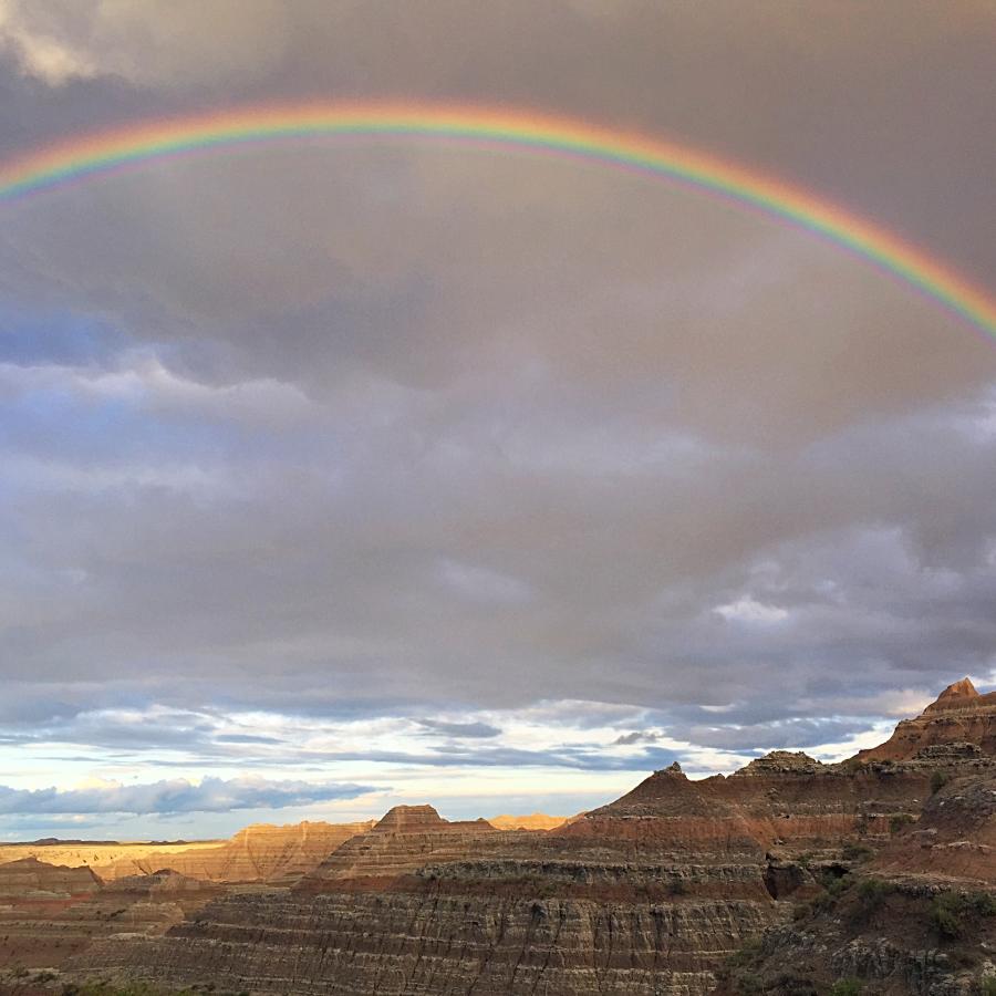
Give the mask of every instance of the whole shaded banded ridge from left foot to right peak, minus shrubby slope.
[[(996, 885), (996, 704), (953, 688), (883, 754), (821, 765), (775, 751), (697, 781), (675, 765), (550, 831), (398, 807), (290, 890), (228, 895), (162, 937), (98, 943), (75, 964), (258, 993), (697, 996), (736, 992), (722, 966), (764, 934), (751, 972), (768, 992), (824, 992), (844, 968), (906, 979), (916, 956), (901, 926), (876, 947), (858, 920), (826, 911), (862, 910), (862, 881), (909, 879), (913, 865)], [(928, 916), (938, 888), (896, 886), (889, 902)], [(810, 913), (792, 921), (799, 909)], [(779, 989), (786, 957), (823, 988)]]

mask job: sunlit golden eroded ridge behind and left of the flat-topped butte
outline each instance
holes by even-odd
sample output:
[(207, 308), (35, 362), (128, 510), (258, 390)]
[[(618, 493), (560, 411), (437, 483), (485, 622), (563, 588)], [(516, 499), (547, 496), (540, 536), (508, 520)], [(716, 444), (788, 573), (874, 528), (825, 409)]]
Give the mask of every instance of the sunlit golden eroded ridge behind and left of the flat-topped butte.
[(189, 851), (152, 852), (94, 870), (103, 879), (149, 874), (170, 868), (208, 882), (289, 883), (317, 868), (341, 843), (373, 826), (363, 823), (255, 823), (224, 844)]

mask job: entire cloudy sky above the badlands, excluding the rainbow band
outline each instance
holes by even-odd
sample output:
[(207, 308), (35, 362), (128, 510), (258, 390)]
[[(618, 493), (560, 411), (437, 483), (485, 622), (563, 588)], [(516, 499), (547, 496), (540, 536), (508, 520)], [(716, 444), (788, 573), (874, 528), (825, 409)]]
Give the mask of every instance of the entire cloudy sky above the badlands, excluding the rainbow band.
[[(260, 103), (564, 115), (996, 294), (992, 0), (0, 0), (0, 170)], [(0, 839), (572, 813), (996, 682), (996, 343), (523, 151), (295, 141), (0, 205)]]

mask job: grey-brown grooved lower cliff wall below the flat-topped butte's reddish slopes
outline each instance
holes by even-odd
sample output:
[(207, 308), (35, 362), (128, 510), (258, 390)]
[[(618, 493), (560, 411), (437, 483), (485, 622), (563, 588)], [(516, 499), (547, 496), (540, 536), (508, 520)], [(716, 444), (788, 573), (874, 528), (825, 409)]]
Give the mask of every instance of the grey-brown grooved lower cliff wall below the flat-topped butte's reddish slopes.
[(432, 892), (239, 895), (101, 971), (295, 994), (685, 994), (770, 922), (764, 905)]

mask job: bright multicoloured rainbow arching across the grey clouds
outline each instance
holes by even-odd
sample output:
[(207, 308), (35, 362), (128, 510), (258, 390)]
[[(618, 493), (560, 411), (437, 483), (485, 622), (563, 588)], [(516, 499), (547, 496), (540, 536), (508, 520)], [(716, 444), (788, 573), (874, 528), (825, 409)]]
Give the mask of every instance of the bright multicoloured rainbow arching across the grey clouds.
[(77, 136), (0, 164), (0, 204), (172, 156), (334, 136), (432, 138), (575, 156), (719, 194), (858, 253), (996, 338), (996, 300), (923, 250), (837, 205), (684, 145), (531, 111), (311, 103), (155, 121)]

